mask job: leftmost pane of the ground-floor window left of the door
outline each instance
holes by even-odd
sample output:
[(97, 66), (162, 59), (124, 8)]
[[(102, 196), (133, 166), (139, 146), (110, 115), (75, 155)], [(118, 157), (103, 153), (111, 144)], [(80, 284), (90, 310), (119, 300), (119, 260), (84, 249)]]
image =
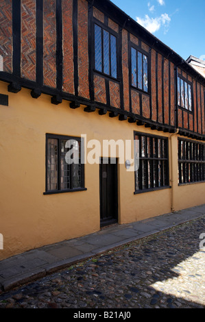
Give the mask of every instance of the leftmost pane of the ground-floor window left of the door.
[(47, 190), (58, 189), (58, 140), (47, 140)]

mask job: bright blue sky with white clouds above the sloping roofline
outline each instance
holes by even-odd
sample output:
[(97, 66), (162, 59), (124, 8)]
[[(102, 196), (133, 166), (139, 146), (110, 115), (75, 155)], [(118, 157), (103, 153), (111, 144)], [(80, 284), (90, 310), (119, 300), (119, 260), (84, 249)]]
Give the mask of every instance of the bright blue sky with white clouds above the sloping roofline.
[(123, 12), (176, 51), (205, 60), (204, 0), (111, 0)]

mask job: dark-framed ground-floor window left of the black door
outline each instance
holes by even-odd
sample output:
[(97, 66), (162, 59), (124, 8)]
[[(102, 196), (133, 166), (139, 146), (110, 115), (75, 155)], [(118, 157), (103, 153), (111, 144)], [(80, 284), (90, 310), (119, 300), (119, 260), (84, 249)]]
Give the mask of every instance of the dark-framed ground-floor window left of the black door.
[(82, 145), (81, 138), (47, 134), (46, 193), (85, 190)]

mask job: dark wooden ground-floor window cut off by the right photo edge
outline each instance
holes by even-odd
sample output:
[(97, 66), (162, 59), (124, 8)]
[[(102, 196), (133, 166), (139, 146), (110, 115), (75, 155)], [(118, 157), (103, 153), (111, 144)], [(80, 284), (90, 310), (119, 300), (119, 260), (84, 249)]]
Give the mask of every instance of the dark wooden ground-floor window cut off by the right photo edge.
[(179, 184), (205, 181), (205, 144), (178, 139)]

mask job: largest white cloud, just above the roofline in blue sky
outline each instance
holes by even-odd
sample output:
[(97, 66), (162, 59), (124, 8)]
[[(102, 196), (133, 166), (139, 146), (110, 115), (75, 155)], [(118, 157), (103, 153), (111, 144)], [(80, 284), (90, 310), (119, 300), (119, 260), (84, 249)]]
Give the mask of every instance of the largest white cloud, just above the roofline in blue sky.
[(168, 14), (161, 14), (157, 18), (150, 18), (148, 14), (145, 14), (145, 18), (136, 17), (136, 21), (152, 34), (157, 32), (160, 29), (160, 27), (163, 26), (164, 32), (166, 34), (169, 29), (169, 23), (171, 22), (171, 18)]

